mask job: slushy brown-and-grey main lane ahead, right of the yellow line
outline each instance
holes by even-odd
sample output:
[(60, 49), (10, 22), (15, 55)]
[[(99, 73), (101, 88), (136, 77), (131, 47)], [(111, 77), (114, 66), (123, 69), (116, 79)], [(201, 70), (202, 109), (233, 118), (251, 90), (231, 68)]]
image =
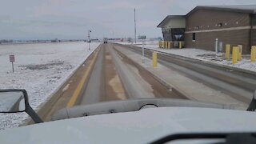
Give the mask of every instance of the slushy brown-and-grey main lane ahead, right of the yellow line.
[(103, 44), (80, 105), (133, 98), (183, 98), (146, 74), (118, 53), (114, 44)]

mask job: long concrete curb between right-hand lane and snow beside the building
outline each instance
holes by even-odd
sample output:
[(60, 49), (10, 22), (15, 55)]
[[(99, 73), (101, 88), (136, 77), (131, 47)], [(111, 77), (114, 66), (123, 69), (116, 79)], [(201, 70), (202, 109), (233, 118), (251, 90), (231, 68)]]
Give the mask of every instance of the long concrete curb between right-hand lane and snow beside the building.
[[(138, 47), (138, 46), (134, 46), (134, 47)], [(138, 47), (138, 48), (141, 48), (141, 47)], [(152, 50), (152, 49), (149, 49), (149, 48), (145, 48), (145, 49)], [(214, 63), (214, 62), (207, 62), (207, 61), (203, 61), (201, 59), (188, 58), (188, 57), (184, 57), (182, 55), (177, 55), (177, 54), (169, 54), (169, 53), (159, 51), (159, 50), (154, 50), (154, 51), (157, 51), (158, 54), (171, 55), (174, 58), (179, 58), (179, 59), (182, 59), (182, 60), (190, 60), (191, 62), (201, 62), (201, 63), (207, 64), (207, 65), (210, 65), (210, 66), (219, 66), (219, 67), (222, 67), (222, 68), (225, 68), (225, 69), (236, 70), (236, 71), (239, 71), (239, 72), (243, 72), (243, 73), (247, 73), (247, 74), (253, 74), (253, 75), (256, 76), (256, 72), (252, 71), (252, 70), (245, 70), (245, 69), (241, 69), (241, 68), (234, 67), (234, 66), (227, 66), (227, 65)]]

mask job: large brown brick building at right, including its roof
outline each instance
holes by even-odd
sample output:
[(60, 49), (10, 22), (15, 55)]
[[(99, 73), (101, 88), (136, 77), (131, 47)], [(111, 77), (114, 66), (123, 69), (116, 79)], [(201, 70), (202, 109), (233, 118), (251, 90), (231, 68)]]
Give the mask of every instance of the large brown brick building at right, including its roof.
[(256, 45), (256, 5), (197, 6), (185, 18), (186, 47), (215, 50), (218, 38), (223, 50), (227, 43), (242, 45), (248, 54), (250, 46)]

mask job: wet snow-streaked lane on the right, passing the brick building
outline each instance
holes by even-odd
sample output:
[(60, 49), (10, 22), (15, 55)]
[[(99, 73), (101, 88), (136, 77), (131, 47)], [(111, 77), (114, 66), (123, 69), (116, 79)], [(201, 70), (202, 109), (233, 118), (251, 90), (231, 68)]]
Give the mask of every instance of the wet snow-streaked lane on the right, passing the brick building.
[[(142, 54), (142, 49), (139, 47), (129, 46), (129, 48)], [(147, 58), (151, 58), (151, 53), (151, 50), (145, 50)], [(177, 70), (188, 78), (222, 91), (240, 102), (249, 103), (254, 94), (256, 78), (252, 74), (186, 60), (170, 54), (158, 54), (158, 62), (170, 69)]]

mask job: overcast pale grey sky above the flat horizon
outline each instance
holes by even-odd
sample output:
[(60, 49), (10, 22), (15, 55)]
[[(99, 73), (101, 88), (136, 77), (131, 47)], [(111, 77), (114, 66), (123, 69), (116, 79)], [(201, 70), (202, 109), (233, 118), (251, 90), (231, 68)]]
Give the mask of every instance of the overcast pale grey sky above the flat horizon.
[(156, 26), (169, 14), (200, 5), (248, 5), (255, 0), (1, 0), (0, 39), (162, 36)]

